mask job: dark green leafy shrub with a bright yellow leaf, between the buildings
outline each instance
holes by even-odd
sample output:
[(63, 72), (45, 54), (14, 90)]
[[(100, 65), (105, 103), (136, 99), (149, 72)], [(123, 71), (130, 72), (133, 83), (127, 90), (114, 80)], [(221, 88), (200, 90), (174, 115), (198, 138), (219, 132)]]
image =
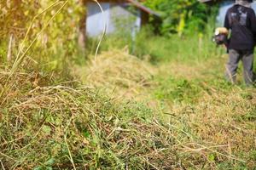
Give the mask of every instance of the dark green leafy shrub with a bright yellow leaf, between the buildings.
[(208, 14), (213, 12), (198, 0), (147, 0), (145, 4), (161, 14), (164, 34), (203, 31)]

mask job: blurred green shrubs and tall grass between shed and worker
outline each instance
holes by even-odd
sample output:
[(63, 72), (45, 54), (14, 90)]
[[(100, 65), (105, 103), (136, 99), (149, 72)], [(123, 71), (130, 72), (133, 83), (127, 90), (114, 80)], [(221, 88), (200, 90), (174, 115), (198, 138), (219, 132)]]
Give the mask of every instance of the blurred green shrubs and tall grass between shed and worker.
[[(160, 20), (151, 17), (148, 26), (135, 38), (122, 31), (108, 35), (102, 42), (102, 51), (128, 48), (131, 54), (148, 58), (153, 63), (170, 59), (206, 59), (222, 51), (212, 43), (218, 4), (209, 8), (197, 0), (148, 0), (143, 3), (160, 14)], [(95, 38), (87, 39), (87, 54), (94, 53), (97, 42)]]

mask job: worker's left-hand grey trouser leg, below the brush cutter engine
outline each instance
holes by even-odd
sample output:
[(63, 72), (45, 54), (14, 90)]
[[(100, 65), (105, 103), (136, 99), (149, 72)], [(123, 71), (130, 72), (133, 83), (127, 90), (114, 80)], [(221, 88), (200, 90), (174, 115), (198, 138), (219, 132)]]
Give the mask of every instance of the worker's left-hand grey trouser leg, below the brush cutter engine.
[(229, 82), (236, 83), (236, 71), (238, 67), (239, 60), (241, 58), (238, 51), (235, 49), (230, 49), (229, 61), (226, 65), (225, 77)]

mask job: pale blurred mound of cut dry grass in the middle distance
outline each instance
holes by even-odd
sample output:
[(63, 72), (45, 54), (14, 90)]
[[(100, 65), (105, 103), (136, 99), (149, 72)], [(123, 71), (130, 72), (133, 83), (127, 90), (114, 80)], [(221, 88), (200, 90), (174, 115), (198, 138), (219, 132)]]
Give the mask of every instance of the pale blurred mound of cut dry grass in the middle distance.
[(104, 88), (118, 99), (142, 98), (151, 86), (154, 67), (125, 49), (111, 50), (93, 57), (84, 67), (74, 71), (87, 86)]

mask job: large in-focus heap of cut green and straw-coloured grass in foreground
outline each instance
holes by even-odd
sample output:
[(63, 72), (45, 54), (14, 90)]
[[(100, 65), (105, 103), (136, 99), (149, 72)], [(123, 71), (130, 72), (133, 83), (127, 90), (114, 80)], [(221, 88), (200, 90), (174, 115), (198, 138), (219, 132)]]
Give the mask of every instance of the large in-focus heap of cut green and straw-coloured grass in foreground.
[[(1, 90), (8, 76), (1, 72)], [(190, 116), (161, 121), (160, 111), (142, 103), (38, 73), (17, 73), (0, 108), (4, 169), (215, 169), (245, 161), (196, 137)]]

